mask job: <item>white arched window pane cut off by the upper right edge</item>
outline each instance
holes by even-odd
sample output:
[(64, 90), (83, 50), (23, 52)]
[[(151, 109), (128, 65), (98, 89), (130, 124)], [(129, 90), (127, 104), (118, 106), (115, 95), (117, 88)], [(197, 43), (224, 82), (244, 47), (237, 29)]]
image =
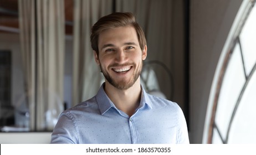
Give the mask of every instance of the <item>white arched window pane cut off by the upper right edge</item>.
[(249, 75), (256, 62), (256, 7), (253, 8), (245, 22), (240, 33), (240, 42), (244, 56), (245, 71)]

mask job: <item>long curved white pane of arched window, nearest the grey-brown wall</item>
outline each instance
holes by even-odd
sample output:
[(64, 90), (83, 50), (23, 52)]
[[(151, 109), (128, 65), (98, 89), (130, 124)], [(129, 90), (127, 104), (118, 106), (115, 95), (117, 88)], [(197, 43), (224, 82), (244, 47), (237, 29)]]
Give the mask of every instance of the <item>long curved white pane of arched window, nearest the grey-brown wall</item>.
[(216, 124), (219, 132), (226, 137), (228, 125), (234, 110), (235, 103), (245, 82), (243, 63), (240, 54), (239, 45), (235, 46), (231, 60), (227, 66), (223, 78), (221, 91), (216, 111)]

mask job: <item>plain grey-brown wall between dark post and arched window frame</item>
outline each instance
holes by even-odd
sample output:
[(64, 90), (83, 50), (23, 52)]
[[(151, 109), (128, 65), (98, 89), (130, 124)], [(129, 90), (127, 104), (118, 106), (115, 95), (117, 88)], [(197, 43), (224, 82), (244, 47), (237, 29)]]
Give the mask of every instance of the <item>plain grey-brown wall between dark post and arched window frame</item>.
[(214, 71), (242, 0), (190, 3), (190, 142), (202, 143)]

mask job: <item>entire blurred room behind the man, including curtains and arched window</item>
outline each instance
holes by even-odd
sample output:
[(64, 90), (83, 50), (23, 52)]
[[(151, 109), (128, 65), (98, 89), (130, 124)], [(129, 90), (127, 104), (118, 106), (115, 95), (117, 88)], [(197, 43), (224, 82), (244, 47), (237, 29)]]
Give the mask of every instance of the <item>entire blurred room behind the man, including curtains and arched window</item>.
[[(141, 81), (185, 113), (191, 143), (255, 143), (255, 0), (0, 0), (0, 143), (48, 143), (58, 115), (103, 76), (90, 28), (132, 12)], [(25, 138), (31, 137), (31, 138)]]

